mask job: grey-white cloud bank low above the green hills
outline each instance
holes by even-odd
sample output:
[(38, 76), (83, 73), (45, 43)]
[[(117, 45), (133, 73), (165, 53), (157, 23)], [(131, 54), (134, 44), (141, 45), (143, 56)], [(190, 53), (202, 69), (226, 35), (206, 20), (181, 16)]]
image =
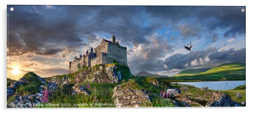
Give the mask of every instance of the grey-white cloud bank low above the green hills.
[[(203, 51), (191, 51), (189, 54), (174, 54), (164, 62), (168, 66), (167, 70), (171, 69), (186, 69), (193, 68), (192, 61), (196, 61), (198, 65), (208, 66), (219, 65), (224, 62), (245, 62), (245, 48), (234, 50), (217, 51), (217, 48), (208, 48)], [(207, 58), (209, 60), (205, 60)]]

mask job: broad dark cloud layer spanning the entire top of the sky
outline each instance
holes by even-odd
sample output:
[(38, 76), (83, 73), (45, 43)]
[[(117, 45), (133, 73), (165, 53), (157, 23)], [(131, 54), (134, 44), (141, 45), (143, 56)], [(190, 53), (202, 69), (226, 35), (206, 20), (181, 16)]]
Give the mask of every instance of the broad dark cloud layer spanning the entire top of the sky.
[[(10, 6), (9, 6), (10, 7)], [(11, 6), (9, 55), (51, 55), (94, 42), (97, 34), (114, 34), (125, 44), (148, 44), (147, 36), (173, 25), (183, 37), (200, 38), (204, 29), (245, 33), (245, 7), (191, 6)], [(188, 21), (180, 23), (180, 21)], [(216, 38), (215, 38), (216, 39)], [(213, 37), (213, 41), (215, 41)], [(88, 43), (87, 42), (87, 43)], [(43, 48), (43, 51), (42, 51)]]

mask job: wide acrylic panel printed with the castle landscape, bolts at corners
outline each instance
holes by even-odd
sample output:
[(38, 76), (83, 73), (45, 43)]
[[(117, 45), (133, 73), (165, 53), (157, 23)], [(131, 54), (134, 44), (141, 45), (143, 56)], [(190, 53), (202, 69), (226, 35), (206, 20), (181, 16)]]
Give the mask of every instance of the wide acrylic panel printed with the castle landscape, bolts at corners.
[(7, 107), (243, 107), (245, 9), (7, 5)]

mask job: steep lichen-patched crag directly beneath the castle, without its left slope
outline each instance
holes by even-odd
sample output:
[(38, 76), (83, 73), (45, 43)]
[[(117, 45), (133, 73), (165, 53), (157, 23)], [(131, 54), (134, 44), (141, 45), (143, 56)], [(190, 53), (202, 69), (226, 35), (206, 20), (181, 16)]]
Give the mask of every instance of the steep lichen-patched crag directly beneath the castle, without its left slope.
[(78, 85), (83, 82), (91, 83), (117, 83), (121, 78), (121, 73), (116, 71), (116, 65), (100, 65), (88, 67), (83, 71), (78, 71), (74, 76), (74, 83)]

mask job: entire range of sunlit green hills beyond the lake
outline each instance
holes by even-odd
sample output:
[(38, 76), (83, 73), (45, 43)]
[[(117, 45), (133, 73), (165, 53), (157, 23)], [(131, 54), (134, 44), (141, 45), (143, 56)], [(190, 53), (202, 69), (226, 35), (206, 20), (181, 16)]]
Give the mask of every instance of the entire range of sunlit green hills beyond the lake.
[(199, 69), (186, 69), (174, 76), (195, 76), (195, 75), (210, 75), (219, 73), (237, 73), (238, 71), (245, 71), (245, 63), (224, 63), (214, 68), (199, 68)]

